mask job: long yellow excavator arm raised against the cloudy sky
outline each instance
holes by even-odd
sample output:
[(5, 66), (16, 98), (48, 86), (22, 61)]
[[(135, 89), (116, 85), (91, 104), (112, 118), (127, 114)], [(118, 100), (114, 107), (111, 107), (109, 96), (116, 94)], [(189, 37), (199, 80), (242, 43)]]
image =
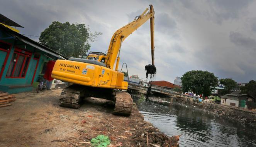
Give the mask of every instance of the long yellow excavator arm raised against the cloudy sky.
[[(152, 65), (154, 65), (154, 8), (153, 5), (149, 5), (149, 12), (148, 8), (139, 16), (134, 19), (131, 23), (128, 23), (124, 27), (117, 30), (113, 37), (111, 38), (109, 50), (106, 57), (106, 67), (113, 69), (115, 60), (117, 60), (115, 70), (118, 69), (119, 60), (120, 60), (120, 48), (122, 42), (128, 37), (132, 32), (137, 30), (141, 25), (143, 25), (147, 20), (150, 19), (150, 31), (151, 31), (151, 58), (152, 58)], [(118, 55), (118, 57), (117, 57)]]

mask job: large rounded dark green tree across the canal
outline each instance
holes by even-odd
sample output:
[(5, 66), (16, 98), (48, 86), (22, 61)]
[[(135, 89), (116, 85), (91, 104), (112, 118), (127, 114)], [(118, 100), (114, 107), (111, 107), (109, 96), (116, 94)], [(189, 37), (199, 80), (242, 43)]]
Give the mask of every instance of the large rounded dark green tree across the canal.
[(211, 90), (218, 84), (218, 78), (214, 73), (192, 70), (183, 74), (181, 82), (183, 92), (192, 91), (195, 94), (209, 96)]

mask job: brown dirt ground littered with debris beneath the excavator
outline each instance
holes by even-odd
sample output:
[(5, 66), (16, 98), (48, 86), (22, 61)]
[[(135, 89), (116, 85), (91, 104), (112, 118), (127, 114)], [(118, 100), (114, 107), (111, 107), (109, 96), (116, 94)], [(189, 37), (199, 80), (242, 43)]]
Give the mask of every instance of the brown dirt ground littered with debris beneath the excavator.
[(0, 146), (86, 147), (99, 134), (108, 135), (112, 147), (144, 147), (147, 138), (149, 144), (173, 144), (174, 138), (144, 122), (135, 104), (130, 117), (113, 115), (114, 104), (103, 99), (87, 98), (79, 109), (64, 108), (58, 104), (61, 90), (17, 94), (13, 105), (0, 108)]

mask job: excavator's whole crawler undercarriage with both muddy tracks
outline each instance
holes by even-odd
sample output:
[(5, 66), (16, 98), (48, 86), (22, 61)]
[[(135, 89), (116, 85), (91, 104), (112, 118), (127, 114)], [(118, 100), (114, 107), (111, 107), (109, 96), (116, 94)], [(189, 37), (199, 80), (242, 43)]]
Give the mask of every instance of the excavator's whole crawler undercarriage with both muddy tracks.
[(129, 116), (132, 111), (132, 97), (127, 92), (113, 89), (71, 85), (62, 90), (59, 105), (78, 109), (85, 97), (96, 97), (115, 102), (114, 114)]

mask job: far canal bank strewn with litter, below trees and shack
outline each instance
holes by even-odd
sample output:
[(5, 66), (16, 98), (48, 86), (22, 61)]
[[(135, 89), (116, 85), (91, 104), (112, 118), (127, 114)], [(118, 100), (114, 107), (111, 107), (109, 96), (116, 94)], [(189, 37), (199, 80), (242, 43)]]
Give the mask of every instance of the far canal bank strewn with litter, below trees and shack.
[(256, 112), (235, 108), (226, 105), (216, 104), (214, 102), (202, 102), (197, 103), (193, 102), (193, 99), (187, 98), (160, 98), (160, 97), (150, 97), (151, 102), (161, 105), (170, 105), (175, 102), (177, 104), (186, 105), (188, 107), (193, 107), (194, 109), (200, 109), (205, 113), (212, 114), (216, 117), (225, 117), (230, 120), (236, 120), (237, 122), (241, 122), (244, 124), (254, 125), (256, 126)]

